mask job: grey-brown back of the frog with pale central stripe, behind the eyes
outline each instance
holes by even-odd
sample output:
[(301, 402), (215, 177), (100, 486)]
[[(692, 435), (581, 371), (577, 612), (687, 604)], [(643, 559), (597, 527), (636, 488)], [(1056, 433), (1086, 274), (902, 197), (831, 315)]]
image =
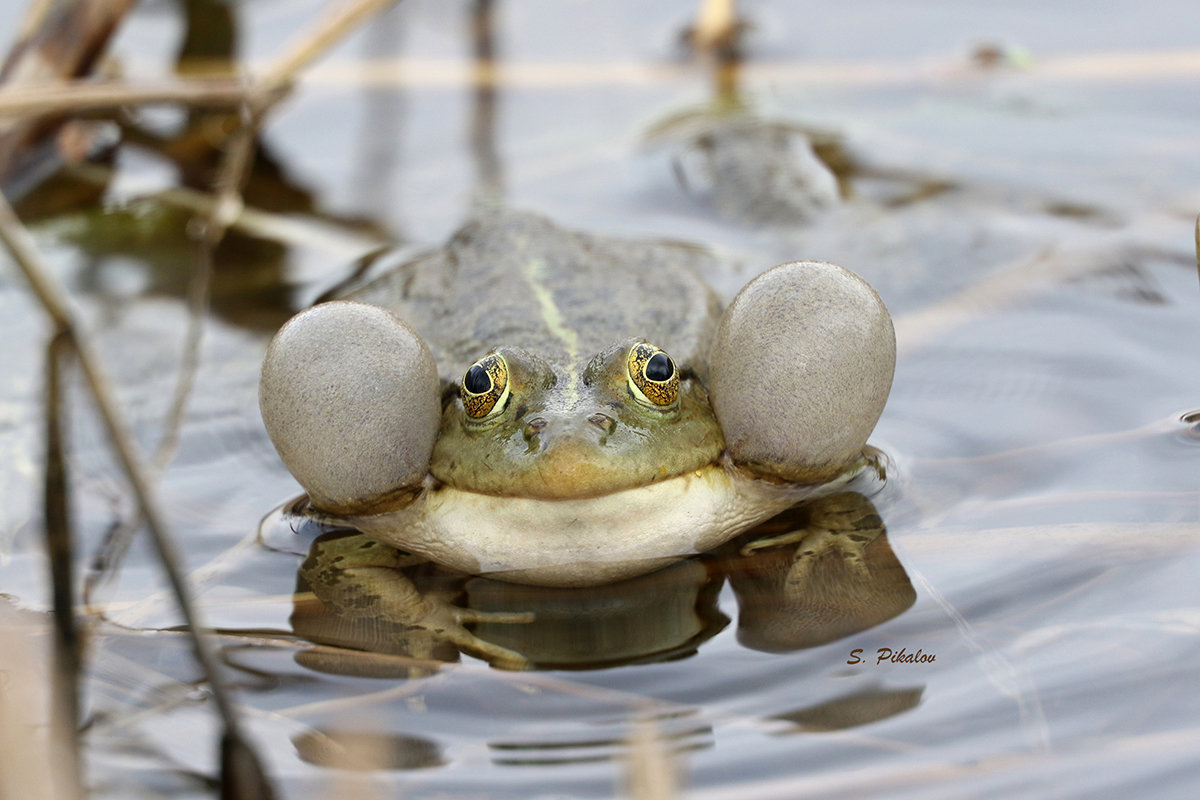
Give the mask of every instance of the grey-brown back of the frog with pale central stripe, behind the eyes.
[(710, 258), (696, 248), (578, 234), (534, 213), (496, 211), (349, 299), (406, 319), (448, 380), (499, 344), (577, 375), (598, 351), (635, 336), (702, 371), (698, 359), (707, 356), (720, 309), (690, 264)]

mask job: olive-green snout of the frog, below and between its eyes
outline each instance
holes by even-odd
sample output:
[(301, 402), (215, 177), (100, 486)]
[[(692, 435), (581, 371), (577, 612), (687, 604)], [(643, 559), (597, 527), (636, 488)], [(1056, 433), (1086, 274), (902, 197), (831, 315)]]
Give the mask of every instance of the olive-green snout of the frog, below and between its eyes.
[[(686, 378), (677, 403), (648, 405), (626, 380), (626, 350), (619, 345), (578, 375), (502, 348), (511, 398), (497, 419), (482, 422), (463, 414), (460, 402), (448, 403), (430, 474), (472, 492), (566, 499), (631, 489), (715, 463), (725, 440), (703, 387)], [(578, 391), (571, 391), (571, 378)]]

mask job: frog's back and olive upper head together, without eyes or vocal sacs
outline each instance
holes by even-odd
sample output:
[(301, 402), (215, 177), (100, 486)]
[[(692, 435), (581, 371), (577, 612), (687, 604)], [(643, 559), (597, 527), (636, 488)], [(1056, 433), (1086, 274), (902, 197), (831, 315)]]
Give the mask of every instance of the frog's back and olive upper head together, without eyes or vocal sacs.
[[(703, 373), (720, 303), (692, 264), (708, 258), (506, 212), (347, 299), (395, 312), (433, 353), (451, 390), (430, 464), (434, 479), (490, 494), (589, 497), (698, 469), (725, 450), (695, 377), (682, 381), (678, 405), (655, 408), (634, 397), (624, 359), (636, 337)], [(498, 419), (474, 421), (457, 389), (492, 349), (509, 362), (512, 397)], [(611, 422), (588, 422), (595, 414)], [(546, 425), (530, 429), (535, 419)]]

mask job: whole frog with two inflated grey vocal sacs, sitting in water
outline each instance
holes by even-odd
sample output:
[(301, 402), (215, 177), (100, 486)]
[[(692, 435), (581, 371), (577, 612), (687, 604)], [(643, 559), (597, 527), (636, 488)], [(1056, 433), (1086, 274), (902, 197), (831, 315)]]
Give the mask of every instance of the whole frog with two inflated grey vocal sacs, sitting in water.
[(390, 548), (606, 584), (862, 471), (895, 362), (878, 295), (799, 261), (722, 312), (709, 258), (496, 211), (293, 318), (263, 365), (268, 433), (310, 516), (390, 546), (338, 553), (317, 594), (470, 648), (469, 612), (419, 596)]

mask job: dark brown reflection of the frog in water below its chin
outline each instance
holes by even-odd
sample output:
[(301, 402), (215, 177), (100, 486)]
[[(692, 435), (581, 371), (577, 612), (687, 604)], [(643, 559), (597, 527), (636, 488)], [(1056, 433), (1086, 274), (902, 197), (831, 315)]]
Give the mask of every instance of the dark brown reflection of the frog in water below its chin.
[[(284, 524), (288, 518), (271, 519), (264, 534), (277, 546), (294, 546), (289, 540), (295, 535)], [(713, 553), (582, 590), (463, 576), (430, 563), (406, 564), (413, 559), (365, 534), (322, 533), (323, 527), (308, 523), (299, 530), (320, 535), (298, 575), (292, 625), (300, 637), (337, 650), (316, 648), (296, 658), (336, 674), (427, 674), (424, 664), (386, 656), (455, 661), (456, 644), (497, 666), (538, 669), (596, 669), (680, 658), (728, 625), (719, 603), (726, 583), (738, 606), (738, 642), (767, 652), (790, 652), (852, 636), (896, 616), (916, 600), (888, 545), (883, 521), (857, 491), (793, 506)], [(415, 628), (404, 621), (410, 615), (397, 616), (390, 609), (397, 602), (394, 593), (379, 594), (389, 584), (352, 584), (338, 581), (336, 569), (326, 569), (347, 553), (361, 560), (362, 551), (373, 551), (380, 566), (403, 570), (421, 597), (469, 608), (478, 619), (470, 626), (476, 638), (450, 642), (442, 632)], [(331, 578), (331, 585), (318, 583)], [(314, 602), (313, 589), (325, 602)], [(331, 593), (335, 602), (329, 602)], [(524, 624), (511, 624), (517, 620)]]

